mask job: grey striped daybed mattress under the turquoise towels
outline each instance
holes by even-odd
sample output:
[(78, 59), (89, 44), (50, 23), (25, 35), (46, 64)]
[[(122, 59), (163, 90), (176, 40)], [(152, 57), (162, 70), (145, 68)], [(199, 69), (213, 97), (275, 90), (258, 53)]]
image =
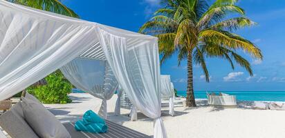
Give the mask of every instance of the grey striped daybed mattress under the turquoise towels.
[(77, 138), (150, 138), (150, 136), (145, 135), (136, 130), (131, 130), (125, 126), (113, 123), (111, 121), (105, 120), (108, 126), (108, 132), (105, 133), (91, 133), (91, 132), (82, 132), (77, 131), (74, 128), (74, 122), (65, 123), (64, 126), (68, 130), (71, 137)]

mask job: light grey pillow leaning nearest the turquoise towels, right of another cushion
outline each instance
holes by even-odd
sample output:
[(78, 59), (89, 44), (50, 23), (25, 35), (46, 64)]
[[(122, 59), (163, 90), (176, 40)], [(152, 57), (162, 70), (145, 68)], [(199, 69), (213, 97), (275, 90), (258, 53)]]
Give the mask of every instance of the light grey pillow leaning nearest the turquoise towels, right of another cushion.
[(22, 97), (23, 113), (31, 128), (42, 138), (71, 138), (55, 116), (37, 101)]

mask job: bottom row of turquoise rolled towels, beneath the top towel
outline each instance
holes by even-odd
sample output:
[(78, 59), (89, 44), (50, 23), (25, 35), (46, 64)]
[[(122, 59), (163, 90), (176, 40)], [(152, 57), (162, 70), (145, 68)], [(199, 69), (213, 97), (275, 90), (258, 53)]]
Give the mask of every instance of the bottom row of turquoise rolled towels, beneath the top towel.
[(79, 120), (75, 122), (75, 130), (84, 131), (84, 132), (103, 133), (107, 132), (107, 126), (105, 124), (100, 124), (100, 123), (84, 125), (84, 121)]

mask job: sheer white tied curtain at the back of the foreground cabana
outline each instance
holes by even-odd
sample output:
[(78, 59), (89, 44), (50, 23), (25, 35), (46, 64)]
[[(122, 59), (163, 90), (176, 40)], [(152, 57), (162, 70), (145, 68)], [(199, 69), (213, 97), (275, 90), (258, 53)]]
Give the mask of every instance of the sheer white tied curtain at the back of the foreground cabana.
[(76, 88), (102, 99), (98, 114), (107, 118), (107, 100), (111, 99), (118, 83), (106, 61), (73, 59), (60, 68), (64, 77)]

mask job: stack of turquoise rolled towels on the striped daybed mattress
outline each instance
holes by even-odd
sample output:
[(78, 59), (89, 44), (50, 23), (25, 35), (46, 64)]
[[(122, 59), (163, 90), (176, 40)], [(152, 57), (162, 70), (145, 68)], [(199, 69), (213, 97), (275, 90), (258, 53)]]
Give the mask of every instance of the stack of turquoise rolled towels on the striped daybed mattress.
[(101, 119), (92, 110), (88, 110), (81, 120), (75, 122), (75, 130), (102, 133), (107, 132), (107, 126), (104, 119)]

